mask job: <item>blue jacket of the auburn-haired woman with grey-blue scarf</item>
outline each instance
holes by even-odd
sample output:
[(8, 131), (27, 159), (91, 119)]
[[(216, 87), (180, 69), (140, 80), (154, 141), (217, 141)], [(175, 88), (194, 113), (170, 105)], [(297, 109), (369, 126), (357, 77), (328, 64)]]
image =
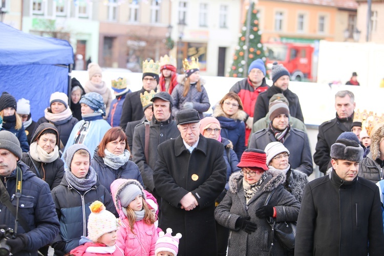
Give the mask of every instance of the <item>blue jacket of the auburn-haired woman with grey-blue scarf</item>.
[(143, 179), (139, 167), (132, 162), (128, 161), (117, 170), (105, 165), (104, 160), (97, 155), (98, 147), (95, 150), (93, 159), (91, 160), (91, 166), (96, 170), (100, 183), (108, 189), (111, 193), (111, 184), (116, 179), (135, 179), (143, 185)]

